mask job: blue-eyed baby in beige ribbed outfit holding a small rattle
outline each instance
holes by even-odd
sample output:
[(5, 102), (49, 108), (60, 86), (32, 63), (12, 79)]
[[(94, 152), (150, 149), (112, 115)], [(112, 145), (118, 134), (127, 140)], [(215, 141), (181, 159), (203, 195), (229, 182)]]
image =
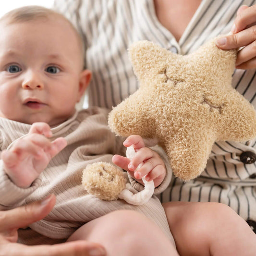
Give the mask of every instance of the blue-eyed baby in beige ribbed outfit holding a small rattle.
[[(122, 161), (125, 147), (108, 129), (108, 110), (75, 110), (91, 72), (83, 70), (83, 44), (73, 25), (32, 6), (3, 16), (0, 34), (0, 209), (56, 195), (45, 219), (20, 230), (20, 243), (97, 239), (110, 255), (134, 255), (138, 249), (143, 255), (177, 255), (156, 196), (135, 207), (94, 198), (81, 184), (87, 164), (111, 162), (114, 154)], [(136, 178), (148, 174), (156, 192), (163, 191), (170, 169), (140, 136), (128, 137), (125, 146), (131, 145), (137, 150), (134, 163), (145, 162)]]

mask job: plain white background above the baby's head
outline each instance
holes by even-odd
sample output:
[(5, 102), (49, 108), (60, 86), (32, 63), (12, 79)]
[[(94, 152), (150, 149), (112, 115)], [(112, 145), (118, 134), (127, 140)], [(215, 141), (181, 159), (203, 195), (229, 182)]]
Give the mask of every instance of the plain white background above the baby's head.
[(12, 9), (26, 5), (41, 5), (51, 8), (53, 0), (0, 0), (0, 17)]

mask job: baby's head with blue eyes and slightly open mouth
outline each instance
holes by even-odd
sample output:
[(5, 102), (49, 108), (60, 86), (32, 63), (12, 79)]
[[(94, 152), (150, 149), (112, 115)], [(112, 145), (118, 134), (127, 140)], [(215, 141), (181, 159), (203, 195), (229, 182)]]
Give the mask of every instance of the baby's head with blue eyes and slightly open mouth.
[(54, 126), (72, 116), (91, 78), (73, 25), (29, 6), (5, 14), (0, 35), (0, 117)]

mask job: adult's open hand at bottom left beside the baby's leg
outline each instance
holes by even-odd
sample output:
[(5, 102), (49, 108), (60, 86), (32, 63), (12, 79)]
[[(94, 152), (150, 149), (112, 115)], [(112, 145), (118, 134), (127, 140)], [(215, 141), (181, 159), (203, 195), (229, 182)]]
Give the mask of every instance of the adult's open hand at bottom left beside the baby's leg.
[(84, 240), (54, 245), (28, 246), (16, 243), (17, 230), (43, 219), (55, 204), (55, 196), (49, 195), (42, 201), (0, 211), (0, 256), (105, 256), (105, 249)]

